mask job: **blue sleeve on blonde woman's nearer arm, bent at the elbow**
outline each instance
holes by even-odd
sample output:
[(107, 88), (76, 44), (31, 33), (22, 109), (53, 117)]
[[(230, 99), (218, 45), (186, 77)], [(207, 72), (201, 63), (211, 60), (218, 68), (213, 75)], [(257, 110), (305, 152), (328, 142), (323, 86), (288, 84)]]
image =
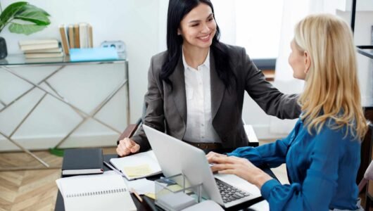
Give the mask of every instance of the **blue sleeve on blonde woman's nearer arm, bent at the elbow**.
[(315, 145), (310, 155), (310, 167), (303, 184), (282, 185), (274, 179), (261, 188), (263, 198), (270, 203), (271, 210), (329, 210), (329, 203), (335, 194), (339, 158), (343, 155), (341, 130), (324, 127), (315, 136)]

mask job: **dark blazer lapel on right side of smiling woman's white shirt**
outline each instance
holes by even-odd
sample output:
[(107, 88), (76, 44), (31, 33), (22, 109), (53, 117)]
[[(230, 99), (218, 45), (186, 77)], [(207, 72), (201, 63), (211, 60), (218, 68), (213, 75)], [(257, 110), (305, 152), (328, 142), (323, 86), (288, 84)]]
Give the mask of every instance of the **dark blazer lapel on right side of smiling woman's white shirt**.
[(220, 103), (225, 93), (225, 85), (217, 76), (215, 69), (215, 59), (213, 52), (210, 51), (210, 86), (211, 86), (211, 116), (214, 119), (217, 110), (219, 110)]

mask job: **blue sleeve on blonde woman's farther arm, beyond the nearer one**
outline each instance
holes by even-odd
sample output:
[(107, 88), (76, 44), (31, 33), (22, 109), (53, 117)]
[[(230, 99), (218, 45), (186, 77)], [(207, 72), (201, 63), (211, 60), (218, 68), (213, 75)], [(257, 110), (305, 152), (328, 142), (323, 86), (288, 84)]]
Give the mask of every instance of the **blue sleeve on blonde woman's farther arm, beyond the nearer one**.
[(293, 131), (285, 139), (277, 140), (274, 143), (267, 143), (258, 147), (241, 147), (237, 148), (232, 153), (228, 153), (228, 156), (236, 156), (240, 158), (246, 158), (250, 160), (254, 165), (267, 164), (270, 167), (278, 167), (286, 161), (286, 153), (289, 144), (298, 132), (298, 128), (301, 126), (300, 121), (296, 123)]

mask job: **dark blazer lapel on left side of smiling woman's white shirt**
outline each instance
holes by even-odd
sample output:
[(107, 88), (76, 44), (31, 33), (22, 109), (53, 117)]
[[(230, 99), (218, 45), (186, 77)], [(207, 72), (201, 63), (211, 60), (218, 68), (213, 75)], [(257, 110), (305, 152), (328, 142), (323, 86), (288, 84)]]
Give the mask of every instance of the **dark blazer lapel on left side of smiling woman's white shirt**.
[(176, 108), (187, 125), (187, 96), (185, 94), (184, 65), (182, 64), (181, 56), (177, 62), (175, 71), (170, 75), (170, 80), (173, 85), (172, 97), (174, 98)]

